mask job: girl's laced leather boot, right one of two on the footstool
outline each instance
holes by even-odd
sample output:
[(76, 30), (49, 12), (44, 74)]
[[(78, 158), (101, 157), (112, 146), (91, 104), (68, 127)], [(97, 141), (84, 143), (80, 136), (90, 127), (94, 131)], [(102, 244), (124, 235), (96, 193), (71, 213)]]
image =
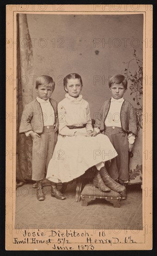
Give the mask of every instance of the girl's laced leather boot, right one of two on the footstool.
[(107, 173), (107, 169), (105, 168), (105, 166), (100, 168), (100, 175), (103, 182), (105, 183), (105, 185), (107, 185), (108, 188), (120, 193), (122, 200), (126, 199), (126, 187), (115, 182)]

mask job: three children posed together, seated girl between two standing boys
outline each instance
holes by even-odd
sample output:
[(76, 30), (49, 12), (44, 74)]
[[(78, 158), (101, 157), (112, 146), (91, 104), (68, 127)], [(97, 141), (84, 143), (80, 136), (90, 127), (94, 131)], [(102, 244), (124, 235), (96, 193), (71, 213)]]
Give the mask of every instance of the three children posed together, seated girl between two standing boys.
[[(82, 99), (81, 76), (69, 74), (63, 84), (66, 95), (57, 110), (57, 102), (50, 98), (55, 88), (53, 79), (39, 77), (36, 81), (37, 99), (25, 107), (25, 121), (21, 119), (19, 132), (31, 135), (33, 139), (32, 180), (37, 182), (38, 200), (44, 200), (42, 180), (45, 168), (46, 178), (51, 181), (51, 196), (62, 200), (65, 196), (56, 188), (56, 183), (69, 182), (94, 165), (97, 168), (94, 185), (102, 191), (112, 189), (122, 193), (126, 199), (126, 188), (118, 182), (124, 184), (128, 181), (128, 152), (132, 150), (137, 135), (136, 114), (131, 103), (123, 99), (126, 78), (114, 75), (110, 79), (112, 99), (104, 102), (94, 129), (89, 104)], [(105, 135), (100, 134), (102, 131)], [(111, 156), (104, 158), (102, 154), (96, 154), (103, 150), (112, 152)], [(46, 157), (39, 157), (43, 151)], [(121, 154), (123, 151), (125, 154)], [(109, 174), (105, 168), (108, 160), (111, 160)]]

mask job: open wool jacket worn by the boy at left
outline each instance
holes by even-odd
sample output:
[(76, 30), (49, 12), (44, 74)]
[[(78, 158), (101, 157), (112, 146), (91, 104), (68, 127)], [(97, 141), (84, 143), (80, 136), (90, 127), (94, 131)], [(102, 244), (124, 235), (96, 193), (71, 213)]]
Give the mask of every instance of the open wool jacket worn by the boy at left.
[[(50, 103), (55, 111), (55, 125), (56, 122), (58, 122), (57, 101), (50, 98)], [(40, 103), (37, 100), (31, 101), (28, 105), (25, 106), (22, 113), (19, 133), (25, 133), (33, 130), (33, 132), (41, 134), (43, 132), (43, 128), (44, 120)]]

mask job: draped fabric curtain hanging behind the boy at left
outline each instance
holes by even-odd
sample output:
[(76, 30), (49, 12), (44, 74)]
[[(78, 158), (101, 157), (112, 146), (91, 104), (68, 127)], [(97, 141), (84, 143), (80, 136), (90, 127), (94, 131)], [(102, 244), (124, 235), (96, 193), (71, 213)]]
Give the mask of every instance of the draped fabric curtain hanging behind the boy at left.
[(31, 180), (32, 140), (19, 134), (21, 115), (26, 104), (33, 100), (33, 51), (26, 14), (17, 14), (17, 154), (16, 180)]

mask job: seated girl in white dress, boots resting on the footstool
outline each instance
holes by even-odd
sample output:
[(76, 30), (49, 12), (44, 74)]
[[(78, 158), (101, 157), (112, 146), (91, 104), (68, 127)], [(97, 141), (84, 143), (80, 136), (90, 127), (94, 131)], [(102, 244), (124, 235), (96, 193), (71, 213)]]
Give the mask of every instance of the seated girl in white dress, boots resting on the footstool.
[(101, 191), (122, 192), (125, 187), (108, 175), (105, 161), (118, 154), (106, 135), (93, 136), (89, 104), (82, 99), (82, 78), (68, 74), (63, 80), (65, 99), (58, 104), (59, 134), (46, 178), (51, 181), (51, 196), (65, 199), (56, 188), (58, 182), (69, 182), (96, 166), (93, 184)]

